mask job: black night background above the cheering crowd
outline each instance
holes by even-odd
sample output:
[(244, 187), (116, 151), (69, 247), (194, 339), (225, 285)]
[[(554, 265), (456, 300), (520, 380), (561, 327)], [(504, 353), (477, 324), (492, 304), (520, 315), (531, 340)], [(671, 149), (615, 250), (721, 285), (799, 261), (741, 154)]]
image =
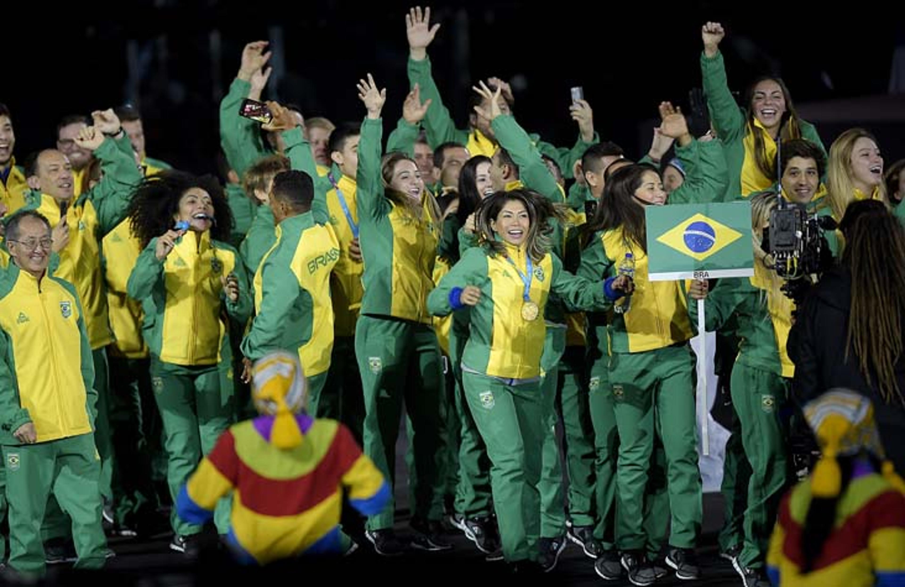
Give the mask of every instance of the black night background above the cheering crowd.
[[(52, 146), (63, 115), (132, 101), (143, 112), (150, 156), (214, 172), (217, 105), (252, 40), (270, 40), (280, 52), (265, 95), (299, 104), (306, 117), (362, 118), (355, 83), (371, 71), (387, 88), (389, 132), (407, 90), (407, 3), (7, 4), (0, 9), (0, 101), (12, 109), (20, 161)], [(496, 75), (512, 83), (524, 127), (571, 146), (569, 88), (581, 85), (601, 136), (640, 156), (657, 104), (685, 104), (688, 90), (700, 86), (700, 26), (707, 20), (727, 27), (721, 48), (732, 90), (744, 90), (760, 73), (778, 73), (805, 114), (814, 102), (888, 93), (893, 50), (897, 41), (905, 44), (900, 16), (880, 5), (828, 6), (452, 1), (433, 7), (433, 22), (443, 26), (428, 52), (460, 128), (472, 80)], [(815, 120), (827, 148), (850, 121), (864, 118), (887, 165), (905, 156), (901, 120), (857, 108), (843, 118), (824, 126)]]

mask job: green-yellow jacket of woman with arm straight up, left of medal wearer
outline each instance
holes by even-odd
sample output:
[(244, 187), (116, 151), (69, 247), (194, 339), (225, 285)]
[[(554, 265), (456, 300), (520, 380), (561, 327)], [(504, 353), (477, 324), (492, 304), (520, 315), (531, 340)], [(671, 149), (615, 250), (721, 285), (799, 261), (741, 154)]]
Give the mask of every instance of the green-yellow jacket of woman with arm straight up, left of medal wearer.
[(380, 119), (365, 119), (361, 125), (355, 194), (365, 261), (361, 314), (430, 324), (426, 299), (433, 289), (440, 227), (426, 211), (418, 218), (407, 205), (386, 197), (380, 174), (382, 134)]

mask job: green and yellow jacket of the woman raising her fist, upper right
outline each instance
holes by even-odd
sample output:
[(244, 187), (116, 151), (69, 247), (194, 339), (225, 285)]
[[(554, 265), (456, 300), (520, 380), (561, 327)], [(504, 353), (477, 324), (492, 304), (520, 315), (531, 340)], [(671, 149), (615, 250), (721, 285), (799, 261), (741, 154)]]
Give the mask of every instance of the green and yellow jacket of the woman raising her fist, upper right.
[[(754, 156), (754, 133), (759, 133), (763, 137), (767, 161), (776, 161), (776, 141), (770, 137), (757, 118), (752, 124), (748, 124), (745, 112), (748, 104), (745, 105), (745, 109), (740, 109), (732, 92), (729, 91), (722, 53), (717, 52), (713, 57), (708, 57), (701, 52), (700, 75), (704, 85), (704, 94), (707, 95), (710, 121), (717, 131), (717, 137), (723, 142), (723, 147), (726, 149), (729, 187), (723, 201), (733, 202), (746, 198), (753, 192), (766, 190), (773, 185), (775, 180), (764, 175), (757, 167)], [(805, 120), (799, 120), (798, 124), (801, 137), (814, 143), (826, 156), (824, 143), (820, 140), (814, 125)]]

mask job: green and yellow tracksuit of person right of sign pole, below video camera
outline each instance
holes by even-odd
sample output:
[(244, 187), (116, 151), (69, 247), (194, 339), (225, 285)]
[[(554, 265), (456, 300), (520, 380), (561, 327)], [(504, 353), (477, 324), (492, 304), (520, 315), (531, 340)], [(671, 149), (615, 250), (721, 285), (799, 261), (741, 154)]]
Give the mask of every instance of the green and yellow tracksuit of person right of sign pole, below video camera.
[[(786, 488), (786, 432), (780, 412), (795, 374), (786, 354), (794, 304), (779, 291), (781, 283), (758, 266), (753, 278), (720, 279), (704, 305), (708, 330), (722, 327), (730, 318), (738, 323), (732, 404), (751, 466), (738, 563), (748, 568), (764, 566), (770, 529)], [(691, 317), (697, 319), (696, 304)]]

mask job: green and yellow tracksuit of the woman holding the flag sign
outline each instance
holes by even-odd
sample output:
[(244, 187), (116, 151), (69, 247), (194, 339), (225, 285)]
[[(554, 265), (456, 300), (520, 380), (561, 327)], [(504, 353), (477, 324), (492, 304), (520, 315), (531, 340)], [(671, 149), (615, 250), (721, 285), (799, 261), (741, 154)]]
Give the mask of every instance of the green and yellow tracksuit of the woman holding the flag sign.
[(681, 283), (648, 281), (647, 254), (621, 229), (595, 234), (578, 274), (589, 279), (615, 276), (628, 252), (634, 259), (630, 307), (614, 313), (607, 328), (609, 386), (619, 434), (616, 543), (621, 550), (640, 550), (654, 538), (643, 529), (644, 501), (654, 437), (659, 434), (670, 497), (669, 544), (693, 548), (700, 533), (701, 487), (688, 346), (693, 333)]

